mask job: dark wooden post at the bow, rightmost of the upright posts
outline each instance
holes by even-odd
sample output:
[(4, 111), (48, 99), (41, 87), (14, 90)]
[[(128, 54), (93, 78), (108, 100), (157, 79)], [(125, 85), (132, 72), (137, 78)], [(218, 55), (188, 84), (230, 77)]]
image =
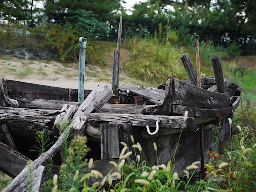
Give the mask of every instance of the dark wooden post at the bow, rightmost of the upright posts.
[(224, 77), (223, 77), (223, 71), (221, 66), (221, 59), (219, 56), (214, 56), (212, 58), (212, 65), (213, 65), (213, 70), (216, 78), (217, 91), (224, 92), (225, 91)]

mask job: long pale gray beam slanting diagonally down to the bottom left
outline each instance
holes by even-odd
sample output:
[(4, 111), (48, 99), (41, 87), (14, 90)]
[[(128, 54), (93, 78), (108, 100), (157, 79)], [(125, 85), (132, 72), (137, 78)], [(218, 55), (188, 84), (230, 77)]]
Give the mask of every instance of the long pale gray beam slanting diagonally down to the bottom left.
[[(103, 91), (105, 88), (105, 91)], [(107, 91), (110, 90), (110, 91)], [(110, 93), (109, 93), (110, 92)], [(94, 89), (90, 95), (83, 101), (83, 103), (79, 106), (78, 110), (75, 113), (76, 117), (79, 117), (79, 115), (87, 115), (88, 113), (92, 112), (95, 108), (102, 107), (111, 97), (112, 95), (112, 89), (110, 86), (100, 83), (96, 89)], [(110, 95), (110, 96), (109, 96)], [(63, 144), (64, 137), (69, 136), (72, 134), (75, 130), (75, 126), (79, 125), (79, 123), (76, 121), (73, 121), (70, 126), (68, 126), (64, 132), (59, 136), (55, 144), (50, 147), (48, 151), (41, 154), (35, 161), (33, 161), (30, 165), (34, 168), (34, 170), (38, 169), (42, 164), (45, 164), (48, 160), (49, 156), (54, 156), (61, 148)], [(84, 121), (86, 123), (86, 120)], [(13, 179), (13, 181), (6, 186), (4, 191), (15, 191), (17, 188), (19, 188), (20, 185), (22, 185), (23, 179), (28, 176), (29, 172), (29, 166), (25, 166), (25, 168), (20, 172), (16, 178)]]

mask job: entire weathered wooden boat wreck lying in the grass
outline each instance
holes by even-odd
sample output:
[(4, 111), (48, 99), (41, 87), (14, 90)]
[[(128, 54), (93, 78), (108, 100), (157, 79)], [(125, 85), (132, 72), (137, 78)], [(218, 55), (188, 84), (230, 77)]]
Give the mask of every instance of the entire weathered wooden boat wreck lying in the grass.
[[(182, 59), (189, 61), (187, 56), (183, 55)], [(189, 62), (183, 62), (187, 68), (186, 63)], [(74, 133), (88, 137), (88, 146), (92, 150), (88, 158), (95, 160), (94, 168), (103, 174), (113, 168), (108, 163), (110, 160), (119, 160), (122, 149), (120, 142), (125, 142), (130, 151), (134, 150), (130, 139), (133, 135), (135, 142), (142, 146), (142, 158), (146, 158), (150, 165), (157, 162), (154, 142), (158, 147), (159, 164), (167, 164), (177, 147), (173, 168), (182, 175), (186, 166), (200, 160), (199, 125), (204, 125), (203, 152), (208, 162), (209, 151), (214, 151), (228, 138), (230, 124), (227, 118), (232, 118), (240, 100), (240, 90), (235, 83), (221, 82), (216, 75), (216, 78), (202, 78), (202, 88), (198, 88), (193, 81), (194, 72), (188, 72), (188, 75), (190, 81), (169, 78), (157, 90), (130, 85), (119, 87), (119, 104), (115, 104), (112, 88), (101, 83), (93, 91), (84, 91), (86, 99), (79, 107), (76, 89), (1, 78), (0, 169), (20, 179), (20, 175), (25, 174), (23, 168), (27, 161), (36, 159), (38, 175), (46, 174), (46, 157), (38, 158), (31, 152), (36, 144), (36, 131), (46, 130), (56, 141), (54, 136), (59, 134), (56, 125), (73, 119), (71, 126)], [(219, 91), (219, 87), (222, 87), (222, 91)], [(185, 111), (188, 111), (186, 121), (183, 119)], [(215, 129), (220, 124), (222, 134), (219, 143), (216, 143)], [(159, 129), (155, 131), (157, 126)], [(46, 156), (57, 154), (54, 159), (56, 166), (61, 164), (58, 152), (60, 138), (49, 149), (50, 152), (45, 153)], [(131, 158), (134, 159), (134, 155)], [(42, 180), (37, 182), (40, 187)], [(12, 189), (7, 187), (5, 191)]]

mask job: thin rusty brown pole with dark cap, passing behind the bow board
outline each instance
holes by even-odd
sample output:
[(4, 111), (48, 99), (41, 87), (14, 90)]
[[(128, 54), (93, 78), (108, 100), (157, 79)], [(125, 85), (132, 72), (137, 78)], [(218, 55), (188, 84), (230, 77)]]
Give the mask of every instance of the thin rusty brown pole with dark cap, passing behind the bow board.
[[(195, 55), (196, 55), (196, 73), (197, 86), (201, 88), (201, 72), (200, 72), (200, 54), (199, 54), (199, 35), (195, 35)], [(204, 138), (203, 138), (203, 124), (200, 124), (200, 146), (201, 146), (201, 172), (202, 179), (206, 177), (204, 169)]]

